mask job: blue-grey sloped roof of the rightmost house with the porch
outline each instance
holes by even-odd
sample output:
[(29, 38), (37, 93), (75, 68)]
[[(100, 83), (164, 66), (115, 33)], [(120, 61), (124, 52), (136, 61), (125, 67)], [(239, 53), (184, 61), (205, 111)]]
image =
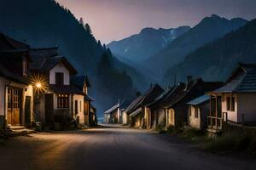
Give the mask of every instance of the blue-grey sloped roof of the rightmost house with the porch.
[(256, 93), (256, 65), (239, 65), (224, 86), (212, 93)]

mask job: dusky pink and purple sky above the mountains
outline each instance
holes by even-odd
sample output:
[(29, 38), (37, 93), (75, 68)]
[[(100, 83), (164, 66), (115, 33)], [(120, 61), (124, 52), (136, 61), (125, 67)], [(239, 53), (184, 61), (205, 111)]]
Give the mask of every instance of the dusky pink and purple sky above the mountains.
[(139, 33), (144, 27), (195, 26), (211, 14), (227, 19), (256, 18), (256, 0), (56, 0), (89, 23), (104, 43)]

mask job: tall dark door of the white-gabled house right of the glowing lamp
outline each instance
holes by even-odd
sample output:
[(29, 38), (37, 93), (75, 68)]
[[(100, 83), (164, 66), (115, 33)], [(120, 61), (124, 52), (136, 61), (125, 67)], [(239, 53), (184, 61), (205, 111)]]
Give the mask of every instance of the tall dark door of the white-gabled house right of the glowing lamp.
[(53, 122), (53, 111), (54, 111), (54, 102), (53, 102), (53, 94), (45, 94), (45, 122), (52, 123)]

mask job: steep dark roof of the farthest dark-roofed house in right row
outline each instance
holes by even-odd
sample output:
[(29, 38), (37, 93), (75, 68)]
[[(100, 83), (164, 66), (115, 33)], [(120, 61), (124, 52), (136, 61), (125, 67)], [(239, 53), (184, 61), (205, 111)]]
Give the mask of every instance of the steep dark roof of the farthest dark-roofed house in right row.
[(164, 89), (161, 88), (158, 84), (154, 84), (148, 91), (142, 96), (135, 99), (131, 105), (129, 105), (126, 109), (126, 112), (129, 114), (132, 111), (137, 110), (138, 107), (143, 105), (148, 105), (154, 101), (161, 93), (163, 93)]

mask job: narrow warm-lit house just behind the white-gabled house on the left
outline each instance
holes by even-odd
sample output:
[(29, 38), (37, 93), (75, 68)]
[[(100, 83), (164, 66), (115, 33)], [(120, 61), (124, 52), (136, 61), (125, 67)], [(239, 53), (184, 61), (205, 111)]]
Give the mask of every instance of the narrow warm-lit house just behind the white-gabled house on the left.
[[(83, 95), (74, 95), (74, 111), (77, 113), (77, 116), (79, 116), (79, 123), (88, 127), (93, 126), (95, 124), (96, 110), (94, 111), (91, 105), (91, 102), (95, 99), (88, 94), (88, 88), (91, 87), (89, 78), (87, 76), (73, 76), (71, 77), (71, 83), (84, 93)], [(80, 102), (79, 111), (76, 109), (78, 102)]]

